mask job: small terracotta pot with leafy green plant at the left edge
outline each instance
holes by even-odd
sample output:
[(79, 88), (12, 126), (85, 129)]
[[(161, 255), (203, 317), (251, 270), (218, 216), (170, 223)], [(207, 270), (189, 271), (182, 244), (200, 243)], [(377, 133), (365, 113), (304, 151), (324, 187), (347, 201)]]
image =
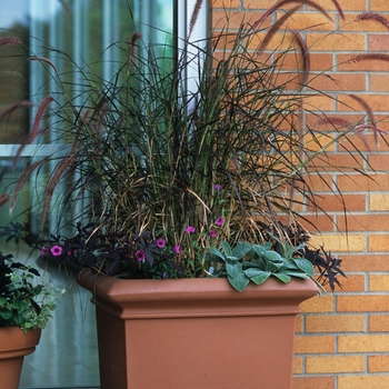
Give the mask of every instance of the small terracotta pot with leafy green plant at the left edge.
[(59, 293), (39, 271), (0, 252), (0, 387), (18, 389), (24, 356), (34, 351)]

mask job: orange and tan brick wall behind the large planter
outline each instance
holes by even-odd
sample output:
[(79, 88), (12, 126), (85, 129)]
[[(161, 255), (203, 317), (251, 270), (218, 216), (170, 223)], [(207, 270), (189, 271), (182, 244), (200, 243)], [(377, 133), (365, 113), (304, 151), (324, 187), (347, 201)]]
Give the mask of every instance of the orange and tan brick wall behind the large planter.
[[(356, 21), (356, 17), (361, 12), (378, 12), (389, 20), (389, 1), (338, 1), (345, 20), (333, 1), (317, 0), (333, 22), (309, 7), (303, 7), (288, 22), (290, 28), (305, 29), (302, 34), (312, 47), (313, 72), (330, 69), (328, 73), (336, 80), (312, 78), (313, 86), (331, 97), (312, 100), (312, 104), (325, 109), (330, 117), (359, 120), (366, 110), (349, 97), (353, 93), (370, 104), (378, 127), (389, 130), (389, 61), (345, 63), (358, 53), (388, 50), (389, 28), (377, 20)], [(228, 9), (233, 16), (230, 22), (233, 28), (243, 17), (258, 19), (275, 3), (275, 0), (213, 0), (212, 22), (217, 26)], [(286, 8), (295, 6), (290, 3)], [(269, 17), (269, 21), (275, 22), (281, 14)], [(306, 119), (308, 123), (313, 120)], [(389, 141), (389, 136), (386, 139)], [(348, 174), (328, 172), (330, 186), (337, 184), (343, 193), (347, 218), (339, 197), (326, 186), (315, 187), (333, 220), (307, 210), (322, 232), (316, 240), (343, 259), (342, 269), (348, 278), (342, 289), (302, 305), (303, 313), (297, 321), (293, 389), (389, 388), (389, 146), (383, 139), (376, 144), (372, 131), (363, 131), (363, 138), (356, 136), (352, 141), (377, 173), (367, 177), (352, 169), (348, 169)], [(347, 144), (333, 148), (339, 166), (355, 166), (343, 147)], [(358, 154), (356, 158), (362, 160)], [(365, 168), (368, 168), (366, 162)]]

